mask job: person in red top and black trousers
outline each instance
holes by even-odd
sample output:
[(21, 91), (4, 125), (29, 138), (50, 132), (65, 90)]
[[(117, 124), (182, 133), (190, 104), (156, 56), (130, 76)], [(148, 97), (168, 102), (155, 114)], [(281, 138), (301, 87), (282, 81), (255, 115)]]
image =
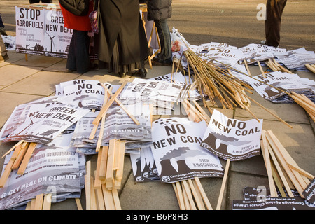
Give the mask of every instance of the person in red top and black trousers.
[(66, 69), (69, 72), (85, 73), (90, 71), (90, 38), (91, 30), (89, 14), (94, 8), (93, 0), (80, 1), (83, 5), (73, 7), (75, 0), (59, 0), (64, 17), (64, 27), (73, 29), (69, 45)]

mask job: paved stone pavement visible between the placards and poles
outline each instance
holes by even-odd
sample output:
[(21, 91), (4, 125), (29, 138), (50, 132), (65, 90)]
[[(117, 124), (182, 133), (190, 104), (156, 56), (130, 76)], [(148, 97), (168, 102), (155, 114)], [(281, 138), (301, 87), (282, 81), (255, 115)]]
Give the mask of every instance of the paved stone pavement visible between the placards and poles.
[[(122, 81), (122, 78), (118, 78), (112, 73), (107, 73), (107, 71), (94, 70), (82, 75), (67, 73), (65, 69), (66, 59), (28, 55), (26, 60), (25, 55), (16, 54), (15, 52), (9, 52), (8, 55), (8, 61), (0, 62), (0, 105), (2, 105), (0, 108), (0, 127), (6, 122), (15, 106), (41, 97), (54, 95), (55, 85), (58, 83), (78, 78), (111, 83)], [(146, 66), (148, 68), (148, 64)], [(258, 66), (250, 66), (250, 69), (253, 75), (260, 73)], [(171, 72), (171, 66), (153, 66), (153, 69), (148, 68), (147, 78)], [(309, 71), (297, 71), (297, 74), (303, 78), (315, 79), (314, 73)], [(251, 111), (258, 118), (264, 119), (263, 128), (272, 130), (295, 162), (297, 162), (297, 165), (314, 175), (315, 125), (304, 109), (297, 106), (297, 104), (273, 104), (262, 99), (256, 93), (253, 94), (253, 99), (293, 126), (291, 129), (283, 125), (283, 123), (256, 104), (251, 106)], [(252, 118), (248, 112), (239, 108), (234, 110), (220, 109), (220, 111), (230, 118), (240, 120)], [(1, 143), (0, 155), (8, 151), (8, 148), (12, 145)], [(95, 164), (95, 156), (91, 156), (88, 159), (92, 160), (93, 165)], [(225, 167), (225, 160), (221, 160), (221, 162)], [(0, 160), (0, 167), (2, 166), (3, 159)], [(201, 182), (212, 207), (215, 208), (222, 179), (207, 178), (201, 179)], [(246, 186), (268, 186), (267, 172), (262, 155), (239, 162), (231, 162), (221, 209), (230, 210), (232, 209), (232, 200), (243, 199), (243, 189)], [(179, 209), (172, 185), (160, 182), (136, 183), (134, 181), (129, 155), (125, 156), (123, 188), (119, 191), (119, 195), (122, 209), (126, 210)], [(81, 202), (83, 207), (85, 207), (84, 191)], [(77, 209), (77, 207), (74, 200), (66, 200), (52, 204), (52, 209)]]

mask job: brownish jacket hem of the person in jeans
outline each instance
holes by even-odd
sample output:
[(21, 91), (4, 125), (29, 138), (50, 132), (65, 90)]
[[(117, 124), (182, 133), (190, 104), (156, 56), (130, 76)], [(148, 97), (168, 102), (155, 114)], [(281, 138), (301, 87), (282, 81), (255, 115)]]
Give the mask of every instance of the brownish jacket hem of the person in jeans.
[(148, 0), (148, 20), (166, 20), (172, 17), (172, 0)]

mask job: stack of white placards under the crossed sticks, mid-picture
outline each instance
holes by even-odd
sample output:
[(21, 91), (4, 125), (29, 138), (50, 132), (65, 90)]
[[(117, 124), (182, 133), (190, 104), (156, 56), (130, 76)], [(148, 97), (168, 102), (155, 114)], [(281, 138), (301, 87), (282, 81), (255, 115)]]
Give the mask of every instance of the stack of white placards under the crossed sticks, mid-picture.
[[(101, 145), (108, 146), (111, 139), (123, 139), (126, 141), (126, 150), (139, 150), (152, 142), (150, 105), (131, 101), (125, 102), (125, 106), (139, 120), (140, 125), (134, 123), (134, 120), (113, 102), (106, 112)], [(87, 113), (78, 121), (76, 129), (73, 131), (71, 146), (78, 148), (81, 153), (96, 153), (95, 146), (101, 133), (100, 125), (97, 127), (93, 139), (90, 139), (90, 134), (94, 128), (92, 122), (97, 114), (97, 112)]]

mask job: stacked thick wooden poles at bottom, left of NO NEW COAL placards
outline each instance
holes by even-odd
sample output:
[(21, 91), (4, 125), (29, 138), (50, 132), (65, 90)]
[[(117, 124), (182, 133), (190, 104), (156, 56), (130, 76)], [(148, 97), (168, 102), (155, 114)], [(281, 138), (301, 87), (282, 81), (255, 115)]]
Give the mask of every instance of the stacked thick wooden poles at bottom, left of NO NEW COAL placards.
[(85, 174), (86, 210), (121, 210), (118, 190), (123, 180), (125, 141), (113, 139), (97, 155), (97, 168), (92, 175), (91, 161)]

